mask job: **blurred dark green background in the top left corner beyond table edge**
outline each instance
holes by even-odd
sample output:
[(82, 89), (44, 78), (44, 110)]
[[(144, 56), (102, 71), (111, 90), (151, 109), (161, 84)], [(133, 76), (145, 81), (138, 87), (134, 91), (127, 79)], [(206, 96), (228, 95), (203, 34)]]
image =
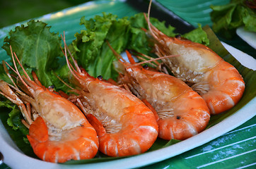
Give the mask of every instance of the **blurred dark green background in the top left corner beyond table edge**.
[(0, 28), (84, 2), (86, 0), (0, 0)]

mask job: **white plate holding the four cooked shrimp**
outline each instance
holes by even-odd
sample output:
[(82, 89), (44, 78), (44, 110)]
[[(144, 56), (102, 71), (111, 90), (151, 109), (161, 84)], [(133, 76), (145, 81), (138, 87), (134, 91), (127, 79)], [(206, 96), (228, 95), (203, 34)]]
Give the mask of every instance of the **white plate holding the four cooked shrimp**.
[[(251, 56), (239, 51), (238, 49), (229, 46), (228, 44), (223, 45), (228, 51), (233, 54), (238, 61), (241, 61), (243, 65), (256, 70), (256, 60)], [(35, 158), (25, 156), (14, 144), (11, 137), (6, 132), (4, 125), (0, 122), (0, 151), (4, 154), (4, 163), (9, 165), (11, 168), (137, 168), (158, 161), (163, 161), (167, 158), (177, 156), (185, 151), (194, 149), (197, 146), (201, 146), (206, 142), (210, 142), (212, 139), (225, 134), (226, 132), (233, 130), (235, 127), (242, 125), (250, 118), (256, 115), (256, 97), (252, 99), (248, 104), (243, 106), (239, 111), (229, 116), (221, 123), (210, 127), (204, 132), (186, 139), (178, 144), (168, 146), (163, 149), (151, 151), (139, 156), (132, 156), (128, 158), (122, 158), (115, 161), (107, 161), (102, 163), (91, 163), (82, 165), (62, 165), (56, 163), (48, 163), (40, 161)]]

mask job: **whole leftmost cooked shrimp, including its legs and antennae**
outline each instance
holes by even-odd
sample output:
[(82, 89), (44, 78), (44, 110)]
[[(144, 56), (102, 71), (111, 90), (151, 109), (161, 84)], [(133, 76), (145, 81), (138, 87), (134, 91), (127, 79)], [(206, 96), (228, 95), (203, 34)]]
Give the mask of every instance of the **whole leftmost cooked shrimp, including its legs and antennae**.
[[(13, 57), (12, 51), (11, 54)], [(13, 63), (16, 67), (14, 57)], [(14, 86), (0, 80), (0, 94), (21, 109), (25, 118), (23, 124), (29, 128), (28, 141), (39, 158), (64, 163), (71, 159), (93, 158), (97, 154), (97, 133), (77, 106), (51, 92), (51, 88), (43, 87), (35, 73), (33, 81), (24, 69), (25, 75), (21, 76), (16, 67), (13, 71), (28, 95), (21, 92), (5, 65), (4, 68)]]

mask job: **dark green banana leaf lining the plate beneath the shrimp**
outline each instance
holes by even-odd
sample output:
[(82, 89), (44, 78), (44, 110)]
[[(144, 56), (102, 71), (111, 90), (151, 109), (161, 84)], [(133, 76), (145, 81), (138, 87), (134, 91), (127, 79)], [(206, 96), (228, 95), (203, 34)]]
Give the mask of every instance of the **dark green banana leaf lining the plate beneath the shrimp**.
[[(214, 35), (214, 32), (211, 31), (210, 27), (203, 27), (204, 31), (207, 33), (210, 44), (209, 47), (216, 51), (217, 54), (219, 54), (225, 61), (228, 63), (231, 63), (235, 66), (235, 68), (238, 69), (240, 74), (243, 76), (245, 80), (245, 92), (243, 94), (243, 98), (240, 100), (240, 102), (231, 108), (229, 111), (226, 111), (224, 113), (221, 113), (219, 115), (213, 115), (211, 116), (211, 120), (209, 122), (209, 125), (207, 128), (217, 125), (220, 123), (223, 119), (227, 118), (229, 115), (232, 115), (236, 111), (238, 111), (240, 108), (245, 106), (245, 104), (248, 104), (248, 102), (253, 99), (256, 95), (256, 72), (254, 70), (250, 70), (248, 68), (245, 68), (243, 65), (241, 65), (231, 54), (226, 51), (226, 49), (223, 47), (221, 42), (219, 42), (219, 39)], [(68, 40), (68, 39), (67, 39)], [(0, 59), (3, 59), (5, 56), (0, 56)], [(27, 156), (31, 156), (33, 158), (37, 158), (35, 154), (33, 154), (33, 150), (31, 149), (29, 144), (25, 144), (23, 139), (24, 135), (21, 134), (21, 132), (18, 132), (16, 130), (13, 130), (12, 127), (7, 125), (7, 118), (8, 118), (8, 111), (10, 111), (11, 108), (6, 107), (0, 107), (0, 118), (1, 122), (6, 127), (7, 132), (10, 134), (11, 138), (13, 139), (13, 142), (16, 142), (16, 145), (23, 151), (24, 154)], [(169, 142), (163, 139), (157, 139), (156, 142), (153, 144), (151, 149), (149, 151), (154, 151), (156, 149), (162, 149), (166, 146), (173, 145), (177, 142), (180, 142), (178, 140), (170, 140)], [(138, 155), (139, 156), (139, 155)], [(82, 163), (99, 163), (103, 161), (112, 161), (120, 158), (112, 158), (105, 156), (104, 154), (101, 154), (100, 152), (95, 156), (93, 159), (89, 160), (81, 160), (81, 161), (68, 161), (65, 164), (82, 164)]]

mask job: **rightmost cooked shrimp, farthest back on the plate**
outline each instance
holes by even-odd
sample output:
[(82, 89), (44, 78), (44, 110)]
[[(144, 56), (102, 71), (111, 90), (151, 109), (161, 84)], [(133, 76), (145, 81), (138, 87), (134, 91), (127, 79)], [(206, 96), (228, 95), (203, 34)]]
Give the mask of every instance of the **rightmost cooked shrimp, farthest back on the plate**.
[(151, 25), (149, 18), (146, 20), (149, 34), (156, 41), (156, 55), (180, 55), (163, 59), (163, 62), (175, 77), (190, 84), (203, 97), (211, 114), (227, 111), (238, 103), (245, 82), (233, 65), (203, 44), (164, 35)]

